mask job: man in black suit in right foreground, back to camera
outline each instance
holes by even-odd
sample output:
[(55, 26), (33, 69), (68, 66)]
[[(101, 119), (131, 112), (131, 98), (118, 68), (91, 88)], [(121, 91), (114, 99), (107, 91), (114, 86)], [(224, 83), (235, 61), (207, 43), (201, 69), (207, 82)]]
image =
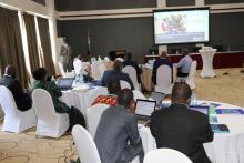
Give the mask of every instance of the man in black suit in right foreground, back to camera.
[(187, 155), (193, 163), (211, 163), (203, 143), (213, 141), (209, 118), (189, 109), (191, 88), (186, 83), (175, 83), (169, 108), (151, 115), (151, 133), (157, 147), (170, 147)]

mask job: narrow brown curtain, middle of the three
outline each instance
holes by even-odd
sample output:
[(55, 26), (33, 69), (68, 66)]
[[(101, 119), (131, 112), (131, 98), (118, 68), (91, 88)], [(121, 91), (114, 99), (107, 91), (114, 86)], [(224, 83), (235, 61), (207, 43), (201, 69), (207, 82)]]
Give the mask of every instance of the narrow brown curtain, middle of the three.
[(39, 53), (38, 53), (38, 41), (37, 41), (35, 26), (34, 26), (34, 16), (23, 13), (23, 20), (26, 24), (30, 68), (32, 72), (37, 68), (41, 67)]

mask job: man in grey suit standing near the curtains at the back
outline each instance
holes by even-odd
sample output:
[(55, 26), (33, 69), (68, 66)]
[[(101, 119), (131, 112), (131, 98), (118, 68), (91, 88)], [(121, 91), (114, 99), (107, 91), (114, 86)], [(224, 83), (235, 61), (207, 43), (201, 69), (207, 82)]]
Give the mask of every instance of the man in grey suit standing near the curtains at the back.
[(70, 70), (71, 53), (72, 53), (72, 49), (68, 44), (67, 38), (63, 38), (63, 44), (60, 48), (60, 57), (61, 57), (64, 72)]

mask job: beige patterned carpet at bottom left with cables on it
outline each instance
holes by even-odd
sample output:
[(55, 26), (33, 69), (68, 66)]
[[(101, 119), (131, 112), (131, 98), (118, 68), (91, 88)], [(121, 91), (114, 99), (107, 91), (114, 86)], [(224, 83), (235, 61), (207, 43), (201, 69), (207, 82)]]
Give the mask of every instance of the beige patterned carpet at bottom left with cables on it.
[[(0, 129), (1, 130), (1, 129)], [(60, 139), (35, 137), (35, 128), (21, 134), (0, 132), (1, 163), (69, 163), (75, 159), (70, 134)]]

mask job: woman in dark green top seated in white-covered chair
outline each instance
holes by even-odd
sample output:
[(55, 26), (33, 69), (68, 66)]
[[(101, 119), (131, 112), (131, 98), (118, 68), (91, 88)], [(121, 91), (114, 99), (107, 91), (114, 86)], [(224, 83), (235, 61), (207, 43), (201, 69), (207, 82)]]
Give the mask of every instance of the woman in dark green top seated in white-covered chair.
[(52, 96), (53, 105), (57, 113), (68, 113), (70, 119), (70, 130), (74, 124), (85, 125), (82, 113), (74, 106), (69, 108), (65, 103), (59, 100), (62, 96), (61, 90), (54, 83), (54, 81), (47, 81), (47, 71), (44, 68), (38, 68), (32, 72), (35, 80), (33, 84), (34, 89), (43, 89)]

